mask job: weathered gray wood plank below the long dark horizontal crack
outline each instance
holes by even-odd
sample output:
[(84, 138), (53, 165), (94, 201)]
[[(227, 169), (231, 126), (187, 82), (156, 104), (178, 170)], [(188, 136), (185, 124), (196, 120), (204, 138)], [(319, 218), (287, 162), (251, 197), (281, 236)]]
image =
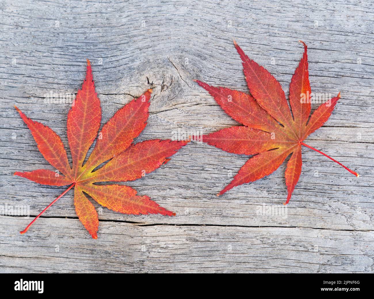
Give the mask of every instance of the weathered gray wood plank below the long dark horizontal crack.
[(0, 223), (0, 272), (374, 270), (373, 232), (101, 222), (99, 239), (93, 240), (76, 219), (43, 218), (27, 236), (14, 233), (8, 217)]

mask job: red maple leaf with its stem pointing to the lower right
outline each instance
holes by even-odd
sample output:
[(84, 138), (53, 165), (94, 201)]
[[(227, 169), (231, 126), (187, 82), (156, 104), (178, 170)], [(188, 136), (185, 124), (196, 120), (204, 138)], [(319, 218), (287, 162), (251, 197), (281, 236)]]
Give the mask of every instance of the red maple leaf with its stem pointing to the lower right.
[(304, 55), (289, 85), (292, 114), (281, 84), (269, 71), (248, 58), (235, 41), (234, 45), (242, 58), (243, 72), (251, 95), (229, 88), (213, 87), (194, 80), (214, 97), (228, 115), (244, 125), (203, 135), (203, 141), (229, 153), (255, 155), (248, 159), (230, 184), (217, 196), (235, 186), (273, 173), (292, 153), (285, 172), (288, 189), (285, 204), (288, 204), (301, 173), (301, 146), (309, 147), (327, 156), (350, 173), (359, 176), (340, 162), (303, 142), (328, 120), (340, 98), (340, 93), (319, 106), (308, 122), (311, 90), (307, 46), (304, 42), (301, 43), (304, 45)]

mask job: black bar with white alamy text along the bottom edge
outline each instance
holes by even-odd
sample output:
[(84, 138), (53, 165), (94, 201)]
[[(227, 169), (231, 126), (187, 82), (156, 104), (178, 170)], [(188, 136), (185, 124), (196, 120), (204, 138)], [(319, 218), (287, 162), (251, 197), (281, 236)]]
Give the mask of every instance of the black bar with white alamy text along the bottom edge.
[[(143, 274), (144, 275), (144, 274)], [(142, 274), (1, 274), (1, 290), (21, 296), (33, 295), (98, 295), (98, 291), (110, 291), (111, 288), (126, 296), (126, 290), (147, 293), (155, 296), (169, 293), (174, 296), (197, 291), (210, 295), (223, 290), (245, 289), (248, 294), (259, 290), (266, 295), (315, 295), (315, 294), (348, 294), (358, 295), (362, 291), (369, 292), (373, 284), (373, 274), (245, 274), (237, 280), (230, 274), (215, 275), (204, 279), (193, 275), (168, 274), (163, 276), (141, 277)], [(206, 275), (206, 274), (205, 274)], [(32, 283), (29, 283), (29, 282)], [(43, 284), (42, 284), (43, 281)], [(213, 283), (214, 281), (214, 283)], [(34, 283), (35, 282), (35, 283)], [(39, 283), (38, 283), (39, 282)], [(22, 285), (21, 285), (22, 283)], [(21, 287), (22, 290), (19, 290)], [(135, 288), (135, 289), (133, 289)], [(29, 289), (29, 290), (24, 290)], [(34, 289), (34, 290), (30, 290)], [(205, 290), (205, 291), (204, 291)], [(200, 293), (200, 291), (199, 291)], [(255, 294), (253, 293), (253, 294)], [(167, 296), (167, 295), (166, 295)]]

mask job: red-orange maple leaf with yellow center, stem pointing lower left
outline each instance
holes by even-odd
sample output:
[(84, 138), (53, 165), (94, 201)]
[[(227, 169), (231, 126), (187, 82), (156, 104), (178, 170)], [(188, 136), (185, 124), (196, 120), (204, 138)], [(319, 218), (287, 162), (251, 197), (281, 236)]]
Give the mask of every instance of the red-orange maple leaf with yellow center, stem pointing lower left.
[[(67, 136), (73, 167), (70, 167), (60, 137), (52, 129), (31, 120), (15, 107), (30, 129), (39, 151), (53, 167), (62, 173), (61, 175), (51, 170), (39, 169), (31, 172), (16, 172), (15, 175), (39, 184), (70, 185), (21, 234), (27, 232), (47, 208), (73, 187), (76, 213), (94, 239), (97, 239), (99, 219), (95, 207), (85, 193), (102, 206), (123, 214), (175, 215), (160, 207), (148, 196), (137, 195), (137, 191), (129, 186), (95, 184), (139, 179), (168, 162), (170, 159), (167, 157), (174, 155), (188, 141), (154, 139), (137, 144), (132, 143), (147, 125), (151, 89), (118, 110), (98, 134), (101, 121), (100, 100), (95, 92), (91, 64), (87, 62), (86, 79), (67, 117)], [(86, 163), (83, 163), (96, 135), (98, 138), (95, 147)], [(95, 170), (97, 166), (108, 160), (109, 162), (103, 167)]]

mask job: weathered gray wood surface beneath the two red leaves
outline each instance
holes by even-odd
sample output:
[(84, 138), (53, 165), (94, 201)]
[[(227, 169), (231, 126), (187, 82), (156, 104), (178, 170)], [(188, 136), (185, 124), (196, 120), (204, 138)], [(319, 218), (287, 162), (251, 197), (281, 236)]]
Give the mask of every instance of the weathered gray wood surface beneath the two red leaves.
[[(373, 1), (8, 1), (0, 2), (0, 272), (374, 272)], [(150, 117), (137, 138), (178, 129), (209, 133), (237, 124), (193, 79), (247, 92), (235, 39), (288, 94), (309, 46), (313, 92), (336, 95), (328, 122), (307, 138), (360, 174), (303, 149), (287, 215), (285, 164), (251, 184), (219, 192), (247, 157), (194, 142), (129, 183), (177, 216), (131, 216), (98, 208), (98, 239), (77, 219), (73, 192), (25, 228), (64, 187), (15, 171), (53, 168), (13, 109), (50, 126), (67, 150), (69, 103), (93, 65), (105, 123), (153, 83)], [(313, 106), (313, 109), (316, 105)]]

